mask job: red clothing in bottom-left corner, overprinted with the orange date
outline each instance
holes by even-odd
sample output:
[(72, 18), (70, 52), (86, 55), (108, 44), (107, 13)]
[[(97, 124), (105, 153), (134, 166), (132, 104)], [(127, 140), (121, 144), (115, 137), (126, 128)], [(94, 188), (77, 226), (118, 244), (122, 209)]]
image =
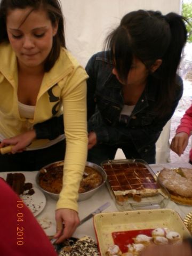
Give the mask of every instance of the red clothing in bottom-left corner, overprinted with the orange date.
[(0, 254), (57, 256), (34, 215), (19, 201), (20, 197), (0, 178)]

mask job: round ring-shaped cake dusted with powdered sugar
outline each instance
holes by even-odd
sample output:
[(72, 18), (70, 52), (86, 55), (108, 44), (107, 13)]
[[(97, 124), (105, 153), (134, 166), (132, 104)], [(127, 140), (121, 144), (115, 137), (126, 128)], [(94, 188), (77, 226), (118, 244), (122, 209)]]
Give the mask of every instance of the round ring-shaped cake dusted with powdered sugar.
[(164, 168), (158, 173), (157, 180), (169, 191), (172, 201), (182, 205), (192, 205), (192, 169)]

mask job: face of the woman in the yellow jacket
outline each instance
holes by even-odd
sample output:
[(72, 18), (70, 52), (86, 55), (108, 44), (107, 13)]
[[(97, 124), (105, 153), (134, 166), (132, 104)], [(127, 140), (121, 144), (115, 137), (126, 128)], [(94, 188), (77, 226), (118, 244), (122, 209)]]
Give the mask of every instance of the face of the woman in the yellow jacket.
[(44, 10), (30, 11), (29, 7), (9, 10), (6, 18), (7, 34), (20, 66), (43, 67), (58, 26), (52, 26)]

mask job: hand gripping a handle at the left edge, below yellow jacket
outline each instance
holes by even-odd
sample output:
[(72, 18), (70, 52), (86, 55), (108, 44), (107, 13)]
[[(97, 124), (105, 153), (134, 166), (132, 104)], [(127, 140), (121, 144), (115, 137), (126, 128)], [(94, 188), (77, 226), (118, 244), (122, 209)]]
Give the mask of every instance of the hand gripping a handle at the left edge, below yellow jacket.
[(17, 152), (22, 152), (27, 146), (36, 138), (35, 130), (30, 130), (28, 132), (22, 133), (10, 139), (5, 139), (0, 144), (0, 148), (8, 145), (14, 145), (12, 147), (11, 153), (15, 154)]

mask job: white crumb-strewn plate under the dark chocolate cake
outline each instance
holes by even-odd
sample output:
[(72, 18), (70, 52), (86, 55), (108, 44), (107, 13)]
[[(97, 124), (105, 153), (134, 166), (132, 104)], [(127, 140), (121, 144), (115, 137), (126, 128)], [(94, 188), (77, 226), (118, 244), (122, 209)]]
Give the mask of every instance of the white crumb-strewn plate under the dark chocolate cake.
[[(4, 180), (6, 180), (7, 173), (16, 173), (16, 172), (0, 172), (0, 177), (2, 177)], [(43, 194), (43, 192), (34, 186), (35, 181), (32, 178), (33, 173), (30, 172), (17, 172), (17, 173), (23, 173), (25, 175), (26, 181), (33, 184), (33, 189), (35, 193), (33, 195), (25, 195), (29, 190), (24, 191), (24, 195), (20, 195), (23, 202), (28, 206), (28, 208), (33, 212), (34, 216), (37, 216), (39, 213), (41, 213), (45, 207), (46, 204), (46, 197)]]

